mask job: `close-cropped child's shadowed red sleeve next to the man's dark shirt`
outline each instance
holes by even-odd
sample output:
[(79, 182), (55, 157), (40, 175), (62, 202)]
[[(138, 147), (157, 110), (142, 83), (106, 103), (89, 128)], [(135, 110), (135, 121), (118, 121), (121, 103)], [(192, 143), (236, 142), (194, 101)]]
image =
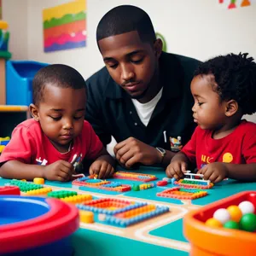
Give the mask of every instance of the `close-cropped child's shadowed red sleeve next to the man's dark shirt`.
[(84, 125), (84, 129), (86, 129), (84, 134), (86, 134), (87, 137), (87, 153), (85, 158), (95, 160), (97, 155), (102, 151), (103, 144), (88, 122), (86, 122), (86, 125)]

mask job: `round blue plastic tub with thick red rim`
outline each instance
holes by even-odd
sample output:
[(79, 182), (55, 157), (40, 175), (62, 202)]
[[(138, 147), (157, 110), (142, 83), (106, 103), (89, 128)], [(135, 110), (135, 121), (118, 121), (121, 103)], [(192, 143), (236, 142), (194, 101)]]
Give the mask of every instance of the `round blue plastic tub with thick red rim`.
[(72, 256), (79, 210), (53, 198), (0, 195), (0, 255)]

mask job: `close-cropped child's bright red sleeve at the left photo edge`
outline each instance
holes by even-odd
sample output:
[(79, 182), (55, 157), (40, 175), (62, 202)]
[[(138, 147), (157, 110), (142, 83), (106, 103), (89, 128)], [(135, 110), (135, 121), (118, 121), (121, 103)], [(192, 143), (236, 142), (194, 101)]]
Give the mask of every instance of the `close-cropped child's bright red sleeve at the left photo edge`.
[(32, 162), (32, 148), (35, 149), (36, 147), (27, 127), (18, 125), (12, 133), (10, 142), (3, 148), (0, 164), (9, 160), (19, 160), (30, 164)]

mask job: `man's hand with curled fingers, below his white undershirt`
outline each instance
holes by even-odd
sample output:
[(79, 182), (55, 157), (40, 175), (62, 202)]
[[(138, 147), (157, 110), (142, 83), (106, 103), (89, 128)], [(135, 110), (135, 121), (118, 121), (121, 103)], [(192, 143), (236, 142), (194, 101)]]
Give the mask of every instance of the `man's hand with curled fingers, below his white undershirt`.
[(134, 137), (129, 137), (116, 144), (113, 152), (119, 163), (127, 168), (136, 163), (151, 166), (161, 161), (161, 155), (156, 148), (142, 143)]

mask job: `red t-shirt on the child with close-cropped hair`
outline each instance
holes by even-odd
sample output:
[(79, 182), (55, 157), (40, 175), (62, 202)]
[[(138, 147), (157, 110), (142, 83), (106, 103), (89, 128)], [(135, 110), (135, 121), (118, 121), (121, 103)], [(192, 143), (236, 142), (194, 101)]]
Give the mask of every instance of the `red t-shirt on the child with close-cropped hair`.
[(102, 142), (96, 136), (91, 125), (84, 121), (81, 134), (73, 140), (73, 147), (67, 153), (60, 153), (44, 135), (39, 122), (27, 119), (15, 127), (11, 140), (3, 149), (0, 163), (9, 160), (19, 160), (26, 164), (49, 165), (57, 160), (71, 162), (73, 155), (79, 156), (77, 163), (84, 157), (95, 159), (102, 150)]

